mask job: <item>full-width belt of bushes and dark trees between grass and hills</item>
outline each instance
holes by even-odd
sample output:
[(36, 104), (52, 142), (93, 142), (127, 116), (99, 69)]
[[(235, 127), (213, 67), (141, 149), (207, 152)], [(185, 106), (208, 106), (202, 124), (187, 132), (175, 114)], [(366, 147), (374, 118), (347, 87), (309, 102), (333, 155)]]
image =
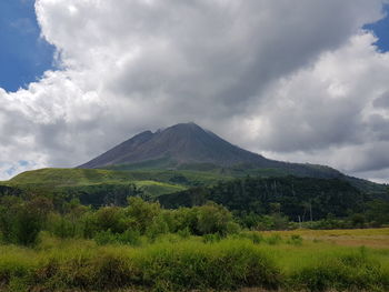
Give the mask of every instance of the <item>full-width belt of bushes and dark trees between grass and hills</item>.
[(0, 194), (1, 239), (24, 245), (34, 244), (41, 230), (60, 238), (136, 243), (139, 236), (154, 239), (159, 233), (222, 236), (239, 228), (347, 229), (389, 223), (389, 195), (372, 198), (337, 179), (247, 177), (157, 199), (131, 183), (2, 187)]

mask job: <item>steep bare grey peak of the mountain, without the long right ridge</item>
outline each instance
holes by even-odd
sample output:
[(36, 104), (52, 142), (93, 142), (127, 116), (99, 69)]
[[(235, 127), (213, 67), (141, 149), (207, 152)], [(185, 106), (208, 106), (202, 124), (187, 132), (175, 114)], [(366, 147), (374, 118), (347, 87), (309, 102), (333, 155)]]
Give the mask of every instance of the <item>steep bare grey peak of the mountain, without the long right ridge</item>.
[(267, 160), (240, 149), (196, 123), (179, 123), (154, 133), (139, 133), (80, 168), (106, 168), (151, 161), (168, 161), (170, 165), (209, 163), (232, 167), (260, 164)]

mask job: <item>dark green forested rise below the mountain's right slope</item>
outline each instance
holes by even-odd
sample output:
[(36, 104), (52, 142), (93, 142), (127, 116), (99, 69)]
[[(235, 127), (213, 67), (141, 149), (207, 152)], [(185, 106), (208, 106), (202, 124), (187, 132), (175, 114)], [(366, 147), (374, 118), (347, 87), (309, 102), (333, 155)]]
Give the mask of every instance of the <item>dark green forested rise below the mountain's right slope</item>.
[(295, 221), (298, 221), (298, 215), (302, 221), (307, 219), (308, 209), (315, 220), (323, 219), (329, 213), (342, 218), (350, 210), (362, 212), (365, 203), (371, 199), (345, 180), (297, 177), (248, 177), (158, 197), (166, 208), (193, 207), (213, 201), (236, 214), (271, 213), (272, 205), (278, 203), (279, 211)]

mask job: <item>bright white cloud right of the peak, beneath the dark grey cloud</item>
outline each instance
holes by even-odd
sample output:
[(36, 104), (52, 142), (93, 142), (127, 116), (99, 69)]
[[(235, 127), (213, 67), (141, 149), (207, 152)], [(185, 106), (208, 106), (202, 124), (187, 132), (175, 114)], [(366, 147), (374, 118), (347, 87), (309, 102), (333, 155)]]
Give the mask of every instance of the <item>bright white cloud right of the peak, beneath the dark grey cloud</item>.
[[(275, 83), (248, 121), (252, 145), (278, 159), (367, 174), (389, 165), (389, 53), (365, 32)], [(373, 177), (368, 177), (375, 179)], [(381, 178), (382, 179), (382, 178)]]

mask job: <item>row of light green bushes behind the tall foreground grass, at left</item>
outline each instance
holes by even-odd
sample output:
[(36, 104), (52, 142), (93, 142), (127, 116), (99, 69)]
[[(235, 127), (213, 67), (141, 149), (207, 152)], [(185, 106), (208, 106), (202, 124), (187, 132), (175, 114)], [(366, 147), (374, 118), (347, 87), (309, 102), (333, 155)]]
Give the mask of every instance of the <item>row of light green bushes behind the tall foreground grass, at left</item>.
[(40, 231), (59, 238), (94, 239), (99, 244), (137, 244), (140, 236), (152, 241), (166, 233), (181, 236), (225, 236), (239, 224), (225, 207), (209, 202), (201, 207), (166, 210), (158, 202), (129, 197), (127, 207), (92, 209), (79, 201), (48, 197), (6, 195), (0, 200), (0, 232), (3, 243), (33, 245)]

